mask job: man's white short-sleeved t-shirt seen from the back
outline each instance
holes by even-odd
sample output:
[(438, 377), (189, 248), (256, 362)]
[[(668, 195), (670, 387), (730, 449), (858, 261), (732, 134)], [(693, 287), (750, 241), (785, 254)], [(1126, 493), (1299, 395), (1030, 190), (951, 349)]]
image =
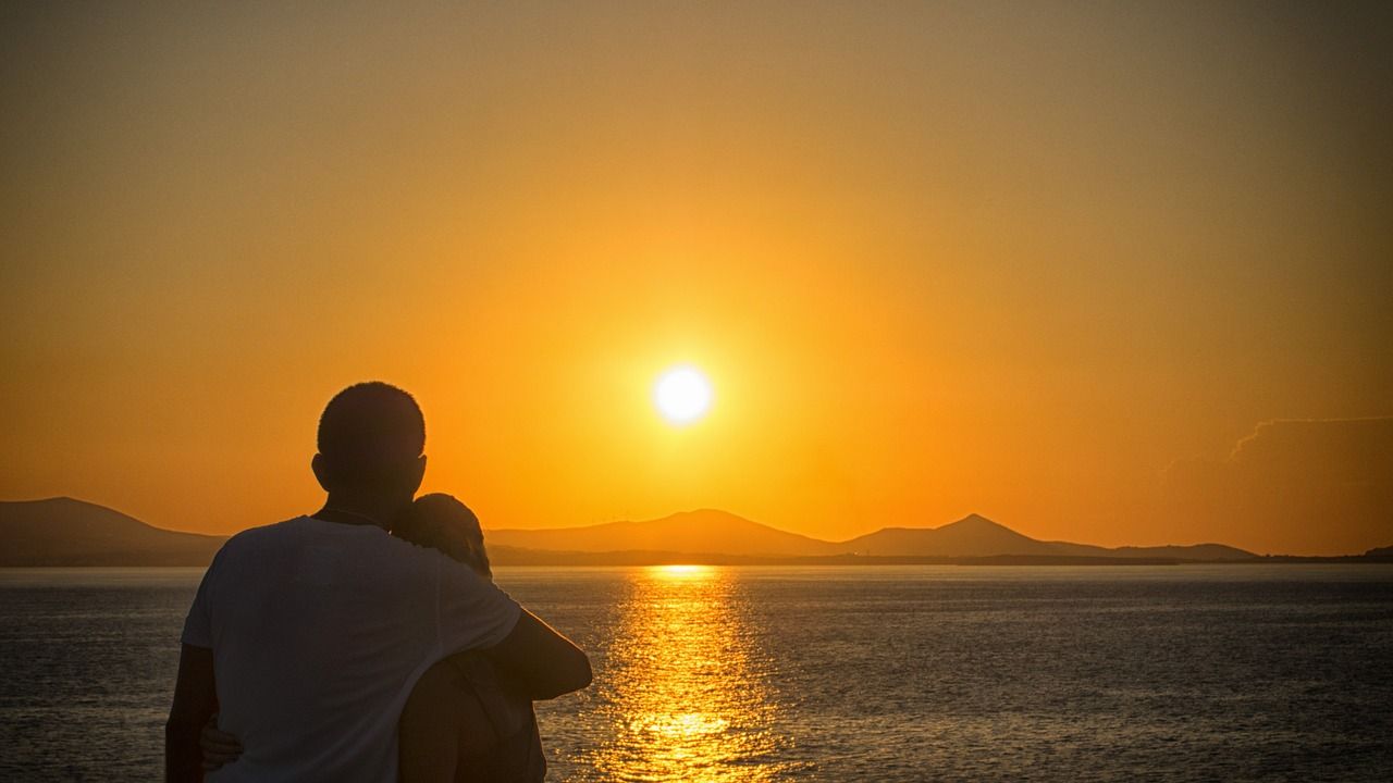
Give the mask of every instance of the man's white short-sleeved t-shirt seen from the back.
[(397, 779), (397, 720), (421, 674), (492, 646), (520, 607), (465, 566), (373, 525), (311, 517), (219, 550), (184, 621), (213, 649), (217, 723), (242, 755), (209, 779)]

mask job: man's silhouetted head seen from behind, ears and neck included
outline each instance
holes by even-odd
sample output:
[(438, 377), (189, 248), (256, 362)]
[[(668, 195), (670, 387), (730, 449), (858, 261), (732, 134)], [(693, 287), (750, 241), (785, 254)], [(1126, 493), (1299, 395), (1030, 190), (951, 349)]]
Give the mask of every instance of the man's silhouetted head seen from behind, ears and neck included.
[(407, 504), (425, 475), (425, 418), (411, 394), (378, 380), (355, 383), (319, 417), (312, 467), (330, 495)]

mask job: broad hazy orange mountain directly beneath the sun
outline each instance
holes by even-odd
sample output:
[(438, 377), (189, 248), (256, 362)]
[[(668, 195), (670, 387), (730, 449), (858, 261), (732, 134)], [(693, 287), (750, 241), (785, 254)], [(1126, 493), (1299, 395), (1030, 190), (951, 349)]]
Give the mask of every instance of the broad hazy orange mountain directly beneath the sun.
[(581, 528), (489, 529), (489, 546), (553, 552), (670, 552), (800, 557), (836, 555), (840, 545), (784, 532), (729, 511), (701, 509), (642, 522), (621, 521)]

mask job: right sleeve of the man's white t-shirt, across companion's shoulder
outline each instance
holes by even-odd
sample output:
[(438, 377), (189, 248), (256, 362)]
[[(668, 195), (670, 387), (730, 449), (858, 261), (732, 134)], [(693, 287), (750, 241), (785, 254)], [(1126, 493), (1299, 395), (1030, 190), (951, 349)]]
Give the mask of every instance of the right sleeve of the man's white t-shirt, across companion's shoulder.
[(436, 568), (442, 655), (493, 646), (513, 633), (522, 607), (508, 594), (443, 555)]

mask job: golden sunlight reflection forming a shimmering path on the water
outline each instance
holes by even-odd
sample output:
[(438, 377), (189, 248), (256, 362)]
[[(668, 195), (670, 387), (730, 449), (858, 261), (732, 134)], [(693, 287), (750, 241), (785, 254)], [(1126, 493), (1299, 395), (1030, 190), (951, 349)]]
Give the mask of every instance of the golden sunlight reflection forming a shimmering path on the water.
[(605, 780), (749, 782), (780, 777), (768, 659), (723, 568), (656, 566), (630, 584), (600, 705)]

